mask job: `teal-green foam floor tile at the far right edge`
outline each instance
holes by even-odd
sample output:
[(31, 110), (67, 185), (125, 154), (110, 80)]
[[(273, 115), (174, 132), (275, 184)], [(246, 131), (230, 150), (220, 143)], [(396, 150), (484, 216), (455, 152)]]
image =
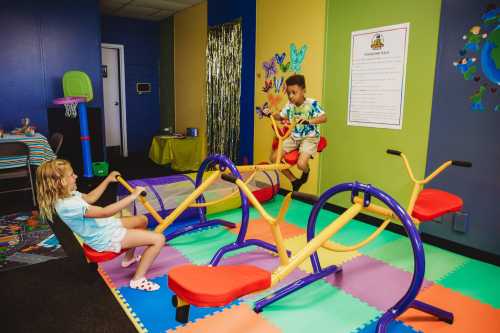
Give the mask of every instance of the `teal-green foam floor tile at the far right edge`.
[(470, 260), (438, 281), (439, 284), (500, 308), (500, 267)]

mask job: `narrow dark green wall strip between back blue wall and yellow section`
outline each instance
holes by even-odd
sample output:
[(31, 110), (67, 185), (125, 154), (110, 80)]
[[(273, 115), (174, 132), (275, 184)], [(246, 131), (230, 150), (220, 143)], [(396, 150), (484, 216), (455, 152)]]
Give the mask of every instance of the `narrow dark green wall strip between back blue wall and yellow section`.
[(160, 128), (175, 129), (174, 19), (160, 22)]

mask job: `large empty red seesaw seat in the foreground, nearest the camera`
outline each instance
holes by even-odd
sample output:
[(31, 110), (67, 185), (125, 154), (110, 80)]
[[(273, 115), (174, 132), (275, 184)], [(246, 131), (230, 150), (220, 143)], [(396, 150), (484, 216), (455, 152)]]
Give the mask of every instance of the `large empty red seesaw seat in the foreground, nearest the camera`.
[(224, 306), (235, 299), (267, 289), (271, 273), (256, 266), (177, 266), (168, 272), (168, 286), (196, 306)]

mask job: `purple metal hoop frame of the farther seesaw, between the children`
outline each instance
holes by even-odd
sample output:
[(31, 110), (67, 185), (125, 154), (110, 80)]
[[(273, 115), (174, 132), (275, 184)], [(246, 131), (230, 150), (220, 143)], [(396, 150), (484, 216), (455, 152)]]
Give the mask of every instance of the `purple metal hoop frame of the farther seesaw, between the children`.
[[(195, 187), (200, 186), (200, 184), (203, 181), (203, 173), (205, 172), (206, 169), (209, 167), (214, 167), (218, 165), (220, 171), (225, 171), (226, 169), (229, 169), (233, 176), (238, 177), (239, 179), (242, 179), (240, 172), (236, 168), (236, 166), (231, 162), (229, 158), (227, 158), (224, 155), (220, 154), (215, 154), (207, 157), (203, 163), (201, 164), (200, 168), (198, 169), (198, 173), (196, 174), (196, 183)], [(222, 259), (222, 257), (231, 251), (235, 251), (247, 246), (257, 246), (257, 247), (262, 247), (266, 250), (273, 251), (273, 252), (278, 252), (278, 249), (276, 246), (264, 242), (260, 239), (245, 239), (247, 230), (248, 230), (248, 221), (250, 219), (250, 206), (248, 204), (248, 198), (246, 195), (239, 189), (240, 192), (240, 197), (241, 197), (241, 227), (240, 227), (240, 232), (238, 233), (238, 236), (236, 238), (236, 241), (234, 243), (225, 245), (221, 247), (213, 256), (212, 260), (210, 261), (211, 266), (217, 266), (219, 264), (219, 261)], [(196, 199), (197, 203), (204, 203), (205, 198), (203, 196), (198, 197)], [(205, 218), (205, 216), (204, 216)], [(201, 221), (200, 221), (201, 222)], [(209, 220), (209, 221), (203, 221), (204, 223), (213, 223), (213, 224), (221, 224), (221, 225), (226, 225), (227, 223), (231, 223), (228, 221), (216, 219), (216, 220)], [(290, 256), (291, 253), (288, 251), (288, 255)]]

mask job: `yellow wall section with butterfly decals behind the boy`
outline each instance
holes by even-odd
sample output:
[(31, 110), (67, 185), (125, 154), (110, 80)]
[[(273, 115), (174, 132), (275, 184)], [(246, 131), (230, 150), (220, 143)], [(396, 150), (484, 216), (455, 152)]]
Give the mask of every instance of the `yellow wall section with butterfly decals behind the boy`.
[[(265, 77), (262, 62), (270, 60), (277, 52), (286, 52), (286, 61), (288, 61), (291, 43), (295, 43), (297, 48), (304, 44), (308, 46), (301, 73), (306, 78), (306, 97), (315, 98), (321, 104), (325, 0), (309, 0), (307, 3), (301, 0), (289, 0), (286, 4), (257, 0), (256, 25), (255, 105), (262, 105), (266, 101), (266, 94), (262, 92)], [(285, 79), (291, 74), (290, 72), (285, 73)], [(283, 94), (282, 96), (281, 105), (284, 105), (286, 97)], [(325, 111), (328, 115), (328, 110)], [(254, 161), (256, 163), (269, 159), (273, 137), (270, 123), (268, 119), (255, 117)], [(310, 161), (309, 181), (301, 188), (301, 191), (318, 193), (318, 164), (319, 157)], [(301, 174), (295, 167), (292, 172), (297, 176)], [(282, 177), (282, 184), (283, 187), (290, 188), (290, 183), (284, 177)]]

